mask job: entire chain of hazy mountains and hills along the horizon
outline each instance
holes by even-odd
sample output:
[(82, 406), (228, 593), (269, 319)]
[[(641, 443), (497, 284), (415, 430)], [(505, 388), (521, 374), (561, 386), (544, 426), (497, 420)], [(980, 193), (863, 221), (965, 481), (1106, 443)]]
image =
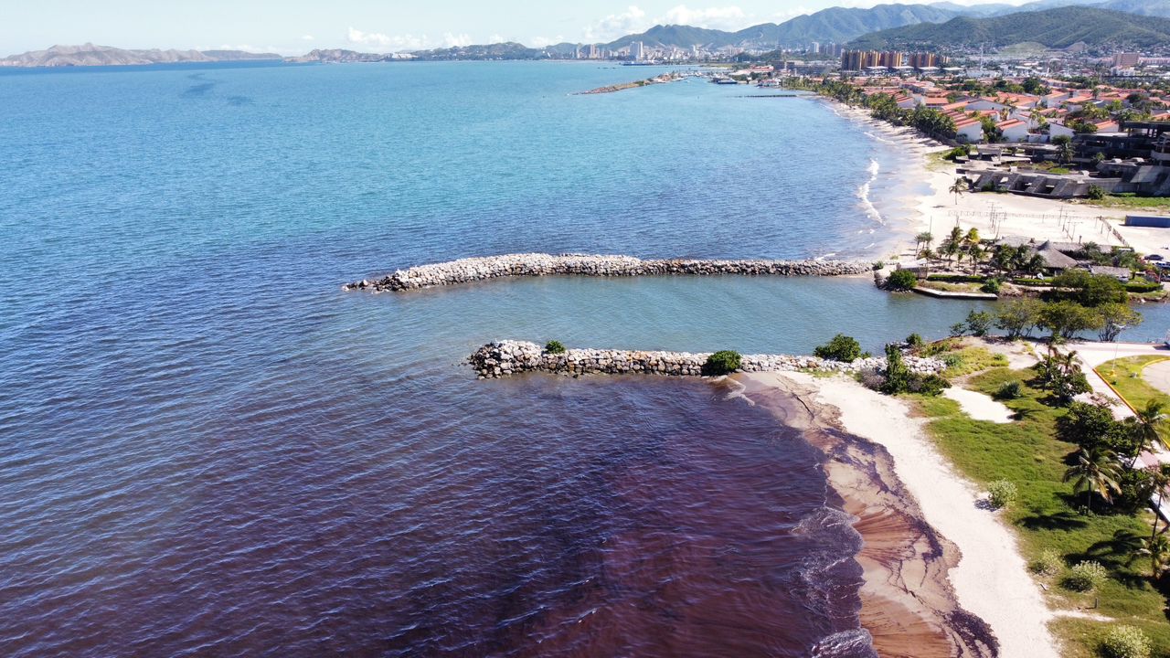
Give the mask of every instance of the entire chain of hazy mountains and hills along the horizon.
[[(1054, 9), (1071, 9), (1052, 13)], [(1142, 16), (1142, 18), (1138, 18)], [(635, 41), (647, 47), (704, 49), (723, 47), (772, 50), (804, 47), (813, 42), (849, 43), (859, 48), (961, 47), (984, 43), (1002, 47), (1038, 42), (1051, 48), (1072, 43), (1089, 46), (1151, 46), (1170, 43), (1159, 19), (1170, 18), (1170, 0), (1037, 0), (1025, 5), (990, 4), (964, 6), (949, 1), (930, 5), (876, 5), (869, 8), (830, 7), (782, 23), (760, 23), (736, 32), (693, 26), (659, 25), (599, 46), (611, 50)], [(461, 48), (420, 50), (406, 59), (420, 60), (531, 60), (572, 56), (577, 43), (528, 48), (521, 43), (493, 43)], [(0, 59), (0, 67), (77, 67), (280, 60), (271, 53), (241, 50), (128, 50), (108, 46), (54, 46)], [(355, 50), (314, 50), (294, 62), (377, 62), (404, 59), (399, 55)]]

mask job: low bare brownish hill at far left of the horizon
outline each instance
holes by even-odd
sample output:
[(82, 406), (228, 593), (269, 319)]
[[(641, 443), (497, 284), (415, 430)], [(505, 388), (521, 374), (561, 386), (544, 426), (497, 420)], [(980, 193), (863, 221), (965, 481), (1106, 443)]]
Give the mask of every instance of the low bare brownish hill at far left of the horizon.
[(220, 62), (240, 60), (280, 60), (271, 53), (242, 50), (128, 50), (110, 46), (54, 46), (0, 60), (0, 67), (117, 67), (132, 64), (168, 64), (180, 62)]

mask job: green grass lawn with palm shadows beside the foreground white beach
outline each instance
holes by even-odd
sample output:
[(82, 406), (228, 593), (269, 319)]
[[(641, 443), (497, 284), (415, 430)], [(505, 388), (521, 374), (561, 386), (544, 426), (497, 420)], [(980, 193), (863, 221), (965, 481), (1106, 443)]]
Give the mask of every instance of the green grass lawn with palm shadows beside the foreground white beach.
[[(1082, 514), (1083, 496), (1073, 496), (1072, 485), (1061, 481), (1065, 459), (1075, 450), (1055, 438), (1055, 420), (1065, 411), (1044, 404), (1046, 393), (1027, 386), (1031, 370), (993, 368), (973, 376), (968, 386), (994, 395), (1011, 381), (1024, 384), (1019, 399), (1005, 404), (1020, 414), (1011, 424), (972, 420), (947, 398), (918, 398), (922, 412), (930, 418), (927, 427), (940, 450), (968, 478), (986, 485), (1009, 480), (1019, 488), (1019, 499), (1003, 512), (1017, 529), (1025, 558), (1034, 560), (1045, 549), (1058, 550), (1071, 566), (1082, 560), (1096, 560), (1113, 576), (1094, 595), (1062, 589), (1060, 577), (1045, 584), (1057, 608), (1075, 609), (1093, 605), (1093, 614), (1140, 626), (1156, 646), (1156, 656), (1170, 654), (1170, 623), (1166, 621), (1166, 582), (1156, 588), (1148, 577), (1148, 566), (1141, 560), (1128, 563), (1130, 551), (1120, 550), (1119, 535), (1145, 536), (1152, 515), (1140, 518), (1112, 514)], [(1097, 503), (1100, 508), (1100, 502)], [(1054, 632), (1066, 640), (1073, 657), (1096, 656), (1096, 645), (1107, 624), (1090, 619), (1062, 618)]]

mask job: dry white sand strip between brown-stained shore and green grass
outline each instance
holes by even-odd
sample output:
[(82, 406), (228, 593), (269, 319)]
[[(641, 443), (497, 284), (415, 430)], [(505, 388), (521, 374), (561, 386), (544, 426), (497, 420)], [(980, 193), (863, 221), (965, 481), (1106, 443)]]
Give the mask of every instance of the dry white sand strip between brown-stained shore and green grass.
[(959, 605), (991, 625), (999, 654), (1059, 658), (1047, 628), (1054, 615), (1028, 575), (1014, 535), (994, 513), (976, 507), (979, 492), (935, 450), (923, 433), (923, 420), (911, 418), (906, 403), (851, 379), (784, 377), (817, 389), (817, 402), (839, 409), (848, 432), (889, 451), (899, 479), (917, 499), (927, 522), (962, 551), (958, 566), (950, 570), (955, 596)]

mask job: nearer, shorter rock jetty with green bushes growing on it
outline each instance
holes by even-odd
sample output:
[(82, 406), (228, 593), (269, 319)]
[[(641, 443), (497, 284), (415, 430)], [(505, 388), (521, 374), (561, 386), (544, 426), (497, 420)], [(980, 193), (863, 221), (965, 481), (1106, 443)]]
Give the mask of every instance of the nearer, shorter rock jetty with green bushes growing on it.
[[(667, 352), (640, 350), (572, 349), (551, 354), (536, 343), (497, 341), (475, 351), (468, 359), (481, 378), (508, 377), (521, 372), (544, 371), (564, 375), (669, 375), (697, 376), (710, 352)], [(906, 357), (913, 372), (938, 373), (947, 364), (937, 358)], [(886, 358), (859, 358), (853, 363), (813, 356), (744, 355), (742, 372), (863, 372), (885, 370)]]

